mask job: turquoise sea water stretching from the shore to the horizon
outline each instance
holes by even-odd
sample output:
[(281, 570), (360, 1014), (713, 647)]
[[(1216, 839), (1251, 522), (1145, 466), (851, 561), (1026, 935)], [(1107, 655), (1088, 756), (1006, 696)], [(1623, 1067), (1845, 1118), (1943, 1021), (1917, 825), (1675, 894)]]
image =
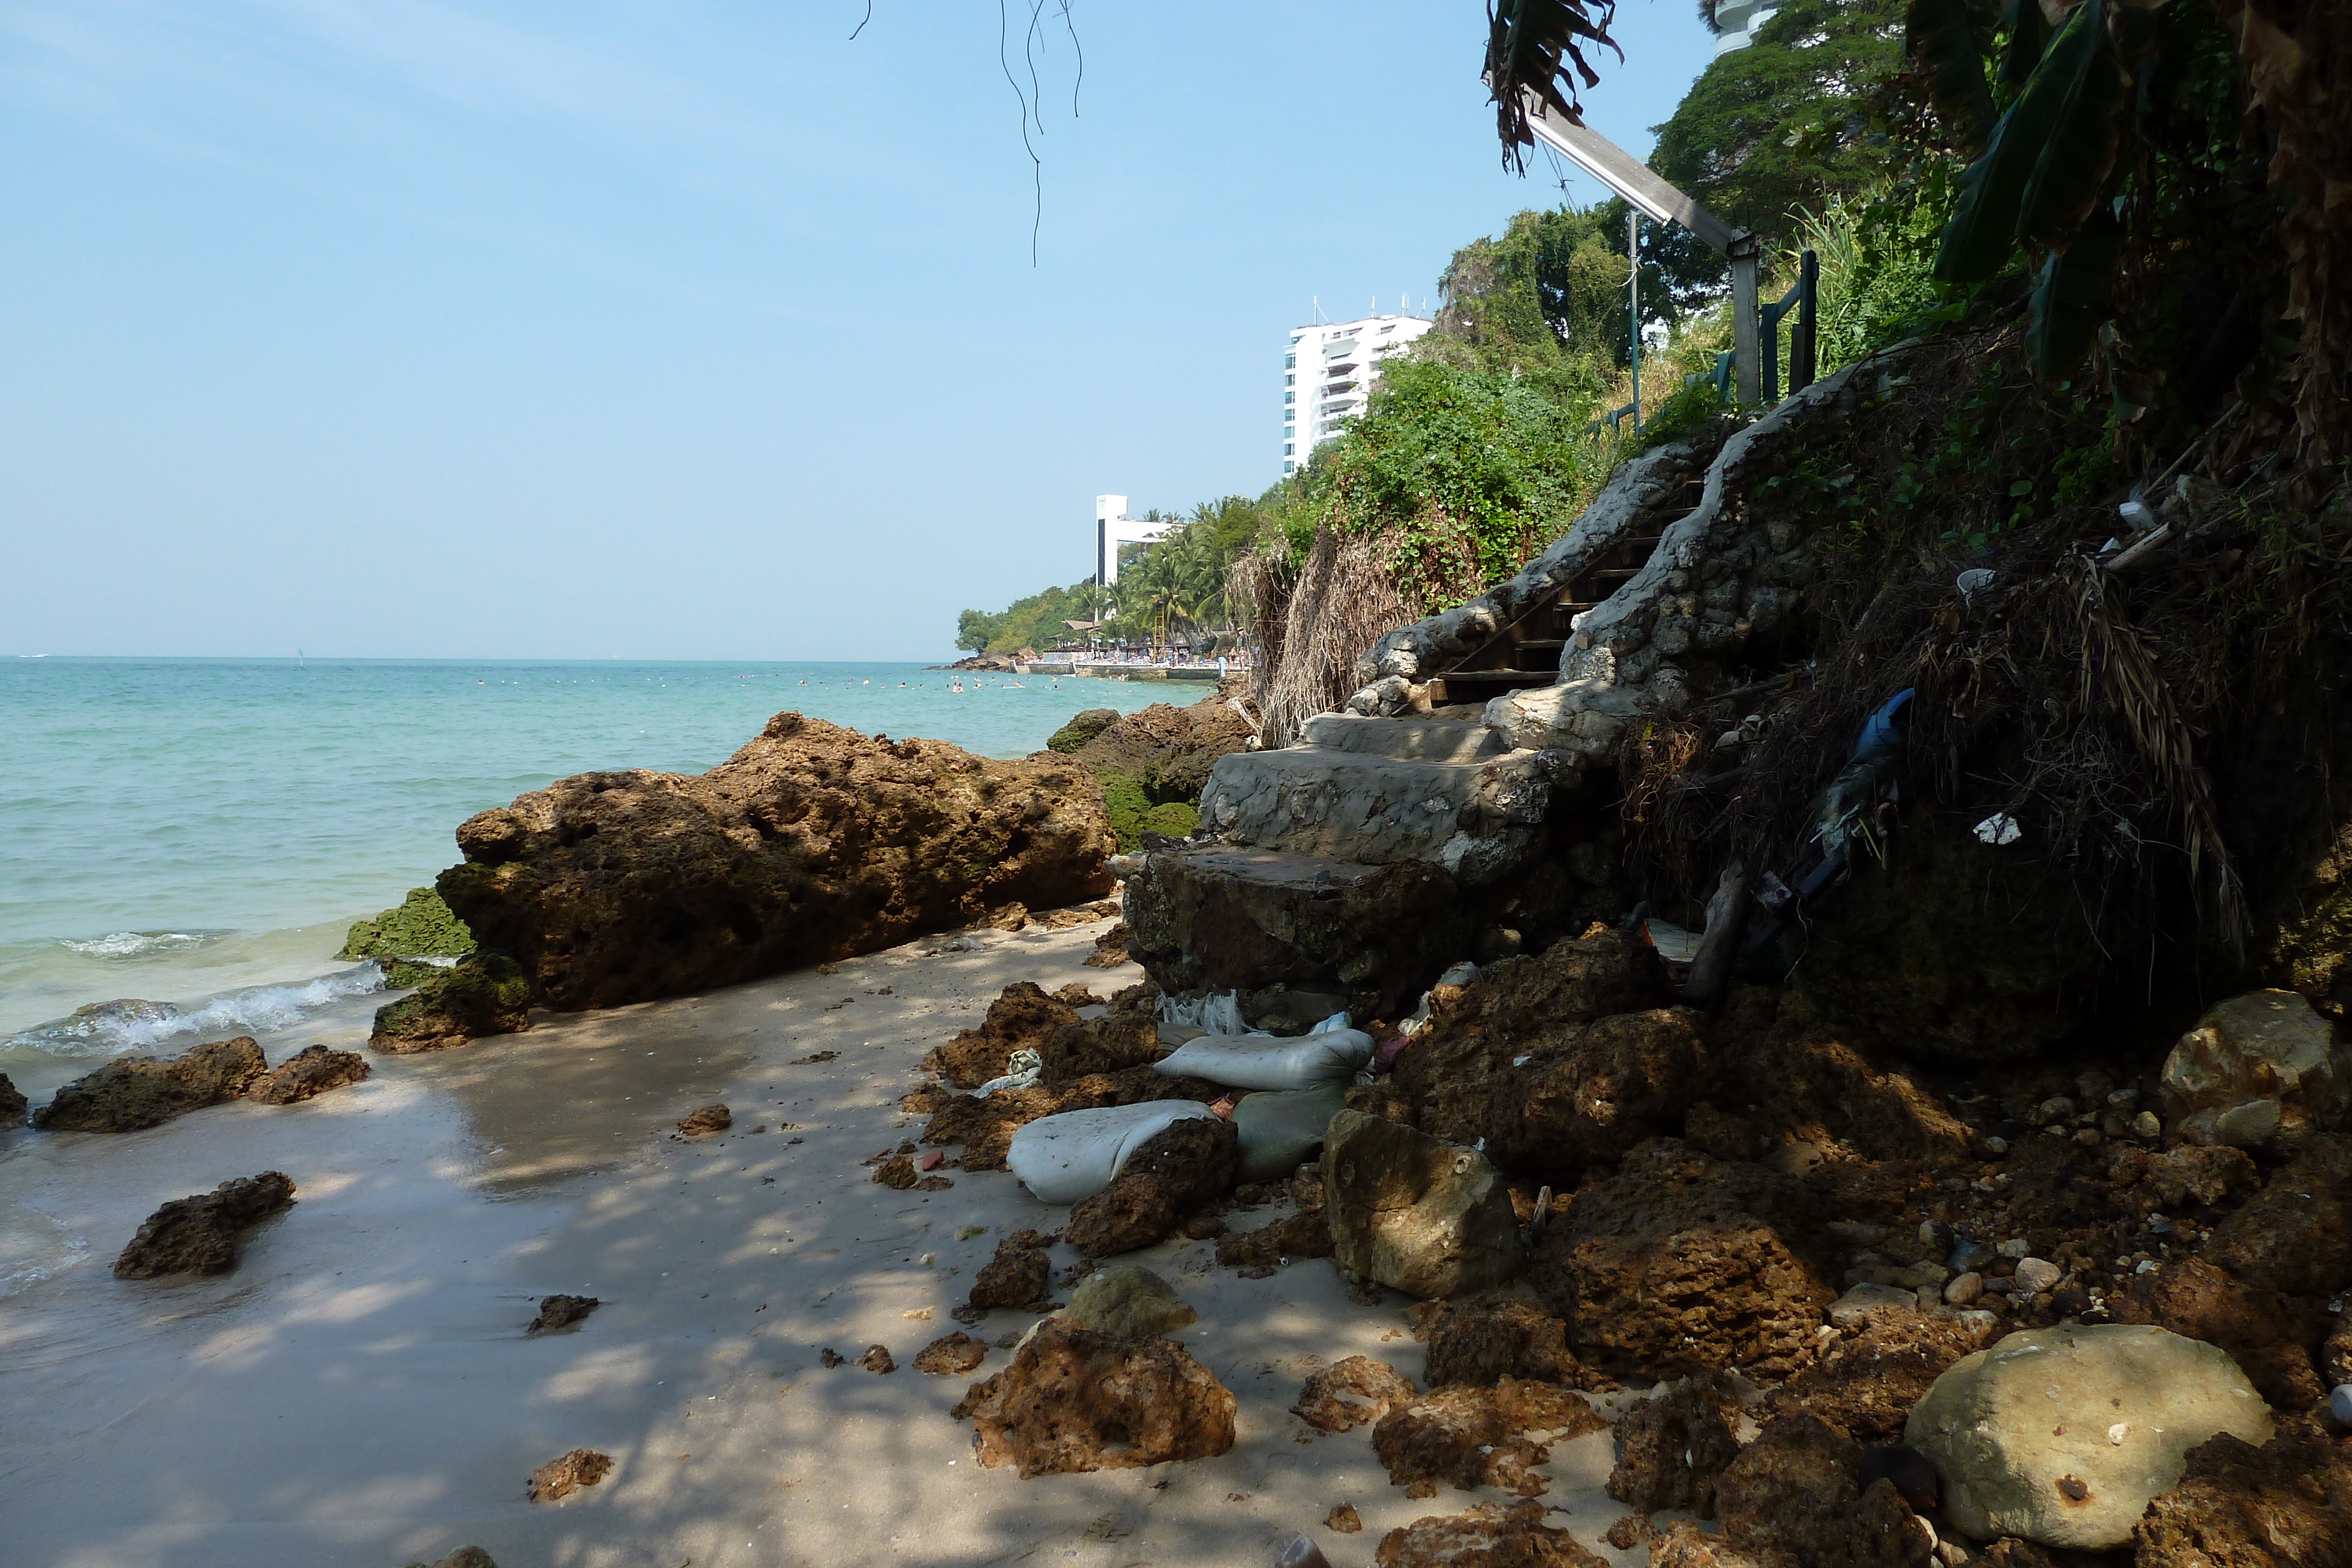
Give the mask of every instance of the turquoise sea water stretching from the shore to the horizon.
[[(564, 773), (699, 773), (786, 708), (1021, 757), (1082, 708), (1204, 693), (870, 663), (12, 658), (0, 1072), (285, 1030), (369, 990), (332, 959), (350, 922), (452, 865), (461, 820)], [(113, 999), (179, 1011), (56, 1025)]]

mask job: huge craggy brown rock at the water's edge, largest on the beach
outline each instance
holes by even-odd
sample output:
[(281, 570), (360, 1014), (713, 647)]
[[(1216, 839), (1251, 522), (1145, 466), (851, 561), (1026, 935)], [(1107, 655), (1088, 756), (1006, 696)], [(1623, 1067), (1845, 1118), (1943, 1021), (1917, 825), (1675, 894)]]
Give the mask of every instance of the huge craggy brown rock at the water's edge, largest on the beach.
[(581, 773), (468, 818), (449, 907), (555, 1009), (755, 980), (1110, 891), (1101, 792), (797, 712), (708, 773)]

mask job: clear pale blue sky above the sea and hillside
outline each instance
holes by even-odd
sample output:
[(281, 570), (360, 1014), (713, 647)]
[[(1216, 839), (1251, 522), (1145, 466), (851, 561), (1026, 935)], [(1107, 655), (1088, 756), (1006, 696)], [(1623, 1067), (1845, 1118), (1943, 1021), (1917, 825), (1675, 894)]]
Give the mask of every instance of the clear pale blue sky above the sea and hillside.
[[(0, 0), (0, 651), (934, 658), (1557, 200), (1475, 2), (1073, 0), (1033, 266), (997, 5), (863, 14)], [(1646, 153), (1712, 40), (1616, 33)]]

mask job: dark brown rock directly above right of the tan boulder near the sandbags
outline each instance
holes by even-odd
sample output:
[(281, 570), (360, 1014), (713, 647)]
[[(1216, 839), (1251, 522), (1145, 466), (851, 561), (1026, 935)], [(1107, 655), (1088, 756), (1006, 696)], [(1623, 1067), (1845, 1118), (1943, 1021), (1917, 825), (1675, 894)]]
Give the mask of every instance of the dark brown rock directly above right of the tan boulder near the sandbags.
[(1486, 1079), (1486, 1154), (1505, 1171), (1569, 1187), (1632, 1145), (1682, 1131), (1715, 1060), (1684, 1006), (1564, 1030)]

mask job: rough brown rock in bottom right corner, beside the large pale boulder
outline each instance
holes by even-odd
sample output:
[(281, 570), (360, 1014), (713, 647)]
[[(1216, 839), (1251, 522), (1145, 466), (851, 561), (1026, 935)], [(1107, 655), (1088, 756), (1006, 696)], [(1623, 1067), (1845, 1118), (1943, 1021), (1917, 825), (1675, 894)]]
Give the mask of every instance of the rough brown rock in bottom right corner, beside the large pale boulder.
[(2352, 1458), (2324, 1436), (2216, 1436), (2131, 1533), (2136, 1568), (2352, 1568)]

